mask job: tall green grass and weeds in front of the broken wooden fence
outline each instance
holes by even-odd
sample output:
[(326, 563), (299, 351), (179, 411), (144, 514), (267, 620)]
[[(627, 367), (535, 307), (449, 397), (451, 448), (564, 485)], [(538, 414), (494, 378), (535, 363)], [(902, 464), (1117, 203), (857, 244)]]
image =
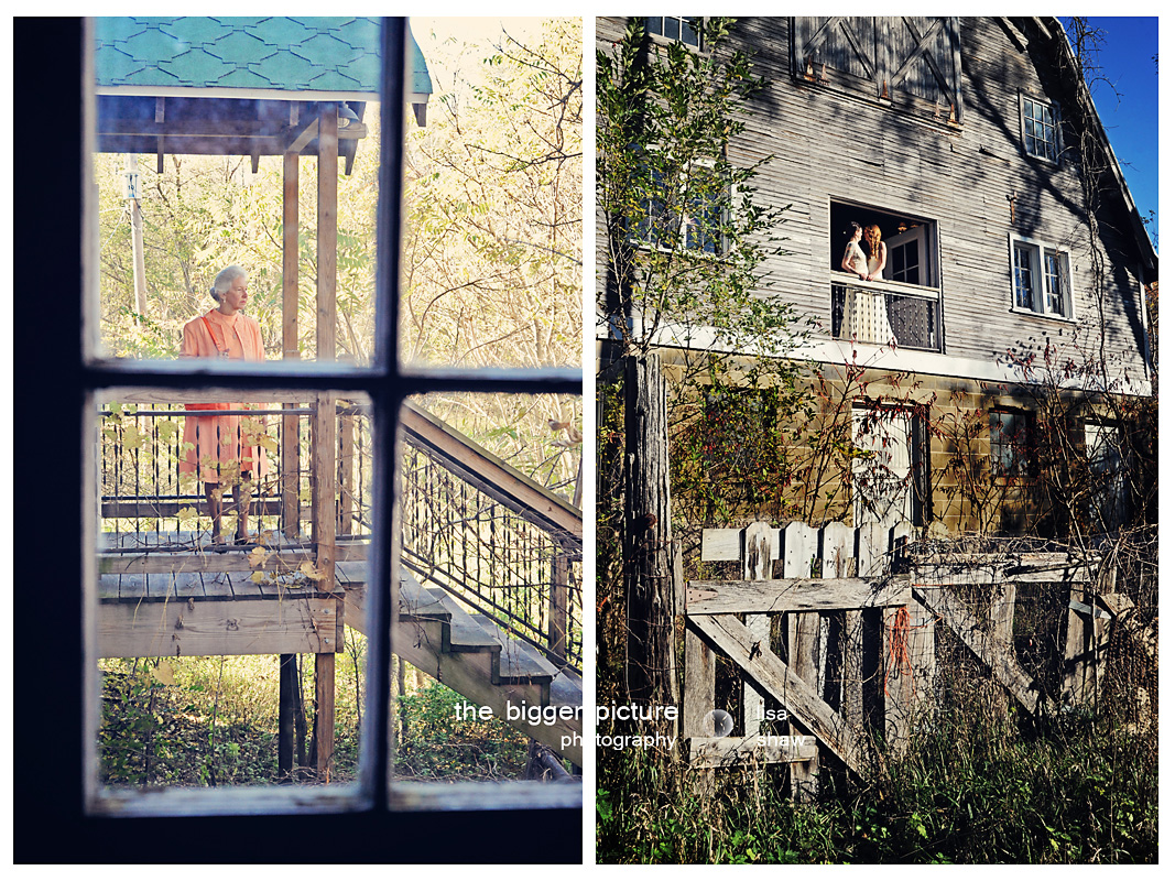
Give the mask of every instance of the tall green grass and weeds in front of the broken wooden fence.
[(1155, 741), (1104, 720), (1032, 731), (960, 711), (870, 780), (794, 802), (778, 767), (698, 795), (678, 760), (602, 756), (602, 862), (1156, 862)]

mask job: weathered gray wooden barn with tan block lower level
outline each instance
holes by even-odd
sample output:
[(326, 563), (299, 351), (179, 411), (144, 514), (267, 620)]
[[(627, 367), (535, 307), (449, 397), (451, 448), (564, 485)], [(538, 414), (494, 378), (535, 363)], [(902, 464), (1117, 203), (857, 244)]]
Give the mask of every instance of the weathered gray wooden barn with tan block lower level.
[[(625, 23), (598, 19), (597, 46)], [(696, 23), (649, 19), (647, 45), (706, 53)], [(1030, 477), (1061, 445), (1088, 463), (1085, 507), (1121, 520), (1136, 482), (1112, 441), (1127, 432), (1096, 392), (1149, 394), (1157, 258), (1061, 23), (753, 18), (734, 22), (731, 48), (753, 54), (765, 87), (726, 157), (766, 160), (756, 199), (788, 206), (765, 295), (814, 321), (803, 354), (855, 384), (838, 418), (895, 477), (862, 505), (854, 466), (842, 511), (857, 525), (1047, 530)], [(875, 280), (844, 268), (854, 223), (886, 246)], [(658, 342), (672, 363), (680, 341)], [(1090, 490), (1089, 475), (1109, 477)]]

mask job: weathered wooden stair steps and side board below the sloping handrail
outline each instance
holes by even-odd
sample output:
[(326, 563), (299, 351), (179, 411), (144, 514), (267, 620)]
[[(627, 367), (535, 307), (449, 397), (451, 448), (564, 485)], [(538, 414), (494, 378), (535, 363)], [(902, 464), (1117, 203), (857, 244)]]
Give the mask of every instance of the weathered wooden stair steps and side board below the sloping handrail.
[[(365, 628), (364, 570), (358, 563), (336, 565), (347, 593), (344, 620), (360, 632)], [(583, 765), (579, 674), (559, 670), (538, 648), (505, 633), (489, 617), (466, 611), (444, 590), (401, 576), (392, 651), (469, 705), (490, 707), (495, 718)]]

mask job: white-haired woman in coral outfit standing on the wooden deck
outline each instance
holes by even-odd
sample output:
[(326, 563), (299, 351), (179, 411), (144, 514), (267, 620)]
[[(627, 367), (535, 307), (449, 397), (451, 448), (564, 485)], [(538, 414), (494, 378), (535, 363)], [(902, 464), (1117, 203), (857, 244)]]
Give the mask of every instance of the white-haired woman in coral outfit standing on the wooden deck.
[[(180, 357), (236, 358), (264, 361), (261, 327), (242, 312), (249, 302), (248, 275), (237, 265), (217, 274), (209, 294), (216, 305), (183, 325)], [(213, 518), (213, 542), (223, 544), (221, 517), (226, 484), (234, 489), (237, 507), (236, 544), (248, 544), (253, 478), (267, 470), (264, 448), (257, 444), (260, 430), (240, 416), (215, 415), (217, 410), (240, 410), (242, 404), (188, 404), (183, 424), (180, 472), (199, 475), (204, 485), (208, 511)], [(204, 412), (207, 411), (207, 412)], [(262, 429), (263, 430), (263, 429)]]

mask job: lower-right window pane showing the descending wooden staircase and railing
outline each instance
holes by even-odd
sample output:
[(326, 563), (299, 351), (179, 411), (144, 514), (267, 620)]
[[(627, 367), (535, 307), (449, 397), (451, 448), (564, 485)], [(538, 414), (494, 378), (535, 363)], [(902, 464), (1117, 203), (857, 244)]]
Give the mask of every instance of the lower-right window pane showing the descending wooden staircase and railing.
[(529, 738), (578, 773), (582, 430), (571, 396), (402, 410), (394, 780), (521, 780)]

